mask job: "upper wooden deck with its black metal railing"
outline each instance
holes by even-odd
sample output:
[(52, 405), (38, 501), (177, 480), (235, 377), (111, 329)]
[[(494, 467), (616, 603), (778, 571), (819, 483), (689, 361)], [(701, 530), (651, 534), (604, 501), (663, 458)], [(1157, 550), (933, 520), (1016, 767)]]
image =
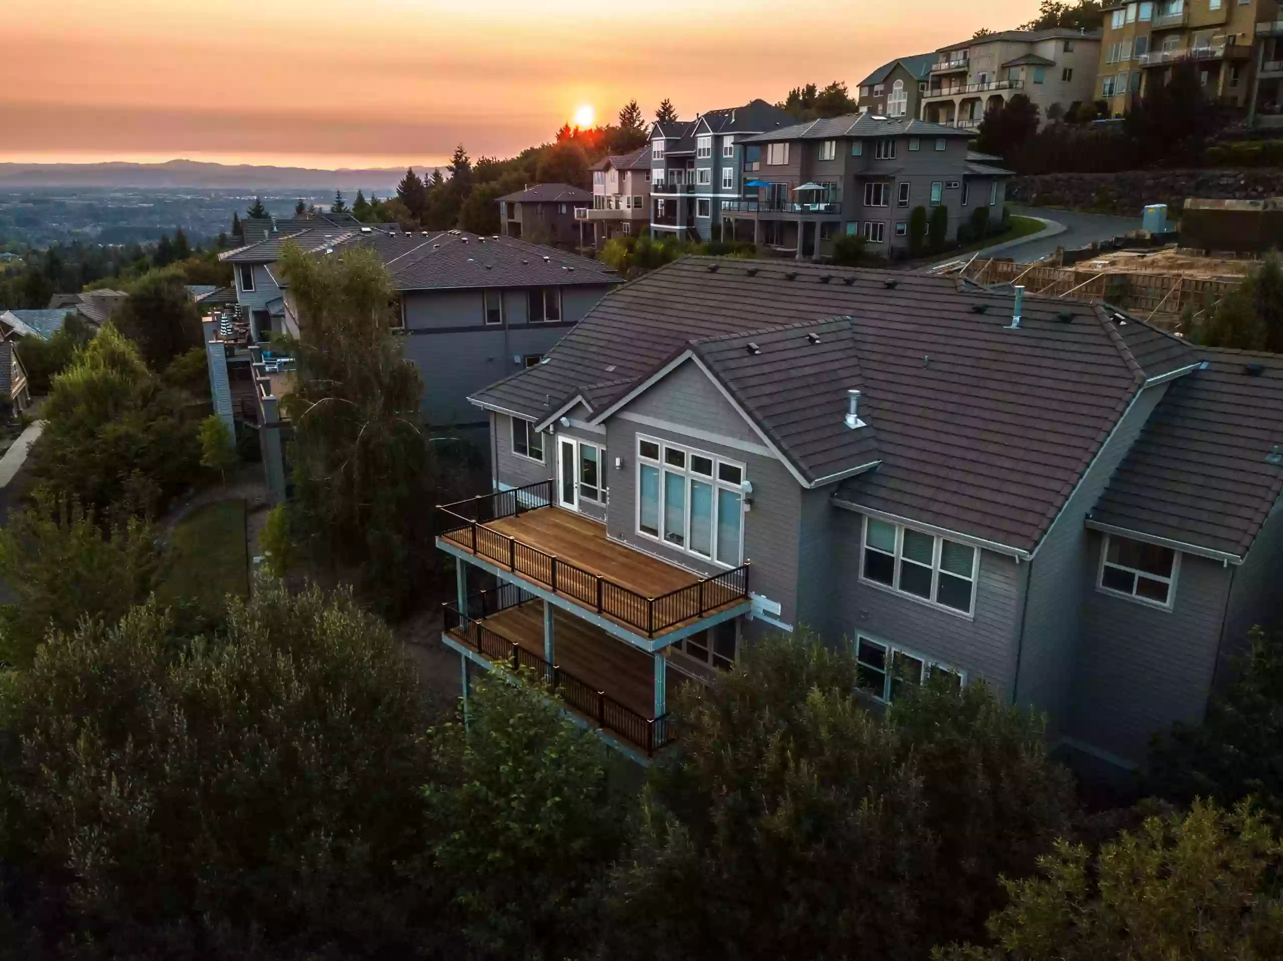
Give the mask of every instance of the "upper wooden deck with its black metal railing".
[(702, 620), (751, 609), (747, 564), (699, 577), (609, 539), (602, 524), (552, 506), (554, 487), (541, 481), (439, 507), (438, 547), (566, 601), (644, 650)]

